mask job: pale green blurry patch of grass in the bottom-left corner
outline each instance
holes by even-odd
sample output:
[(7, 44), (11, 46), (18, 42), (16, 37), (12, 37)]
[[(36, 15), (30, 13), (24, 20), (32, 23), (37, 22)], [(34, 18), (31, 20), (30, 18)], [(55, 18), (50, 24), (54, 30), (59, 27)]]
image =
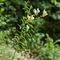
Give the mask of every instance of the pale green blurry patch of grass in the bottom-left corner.
[(6, 45), (0, 45), (0, 60), (12, 60), (14, 50)]

